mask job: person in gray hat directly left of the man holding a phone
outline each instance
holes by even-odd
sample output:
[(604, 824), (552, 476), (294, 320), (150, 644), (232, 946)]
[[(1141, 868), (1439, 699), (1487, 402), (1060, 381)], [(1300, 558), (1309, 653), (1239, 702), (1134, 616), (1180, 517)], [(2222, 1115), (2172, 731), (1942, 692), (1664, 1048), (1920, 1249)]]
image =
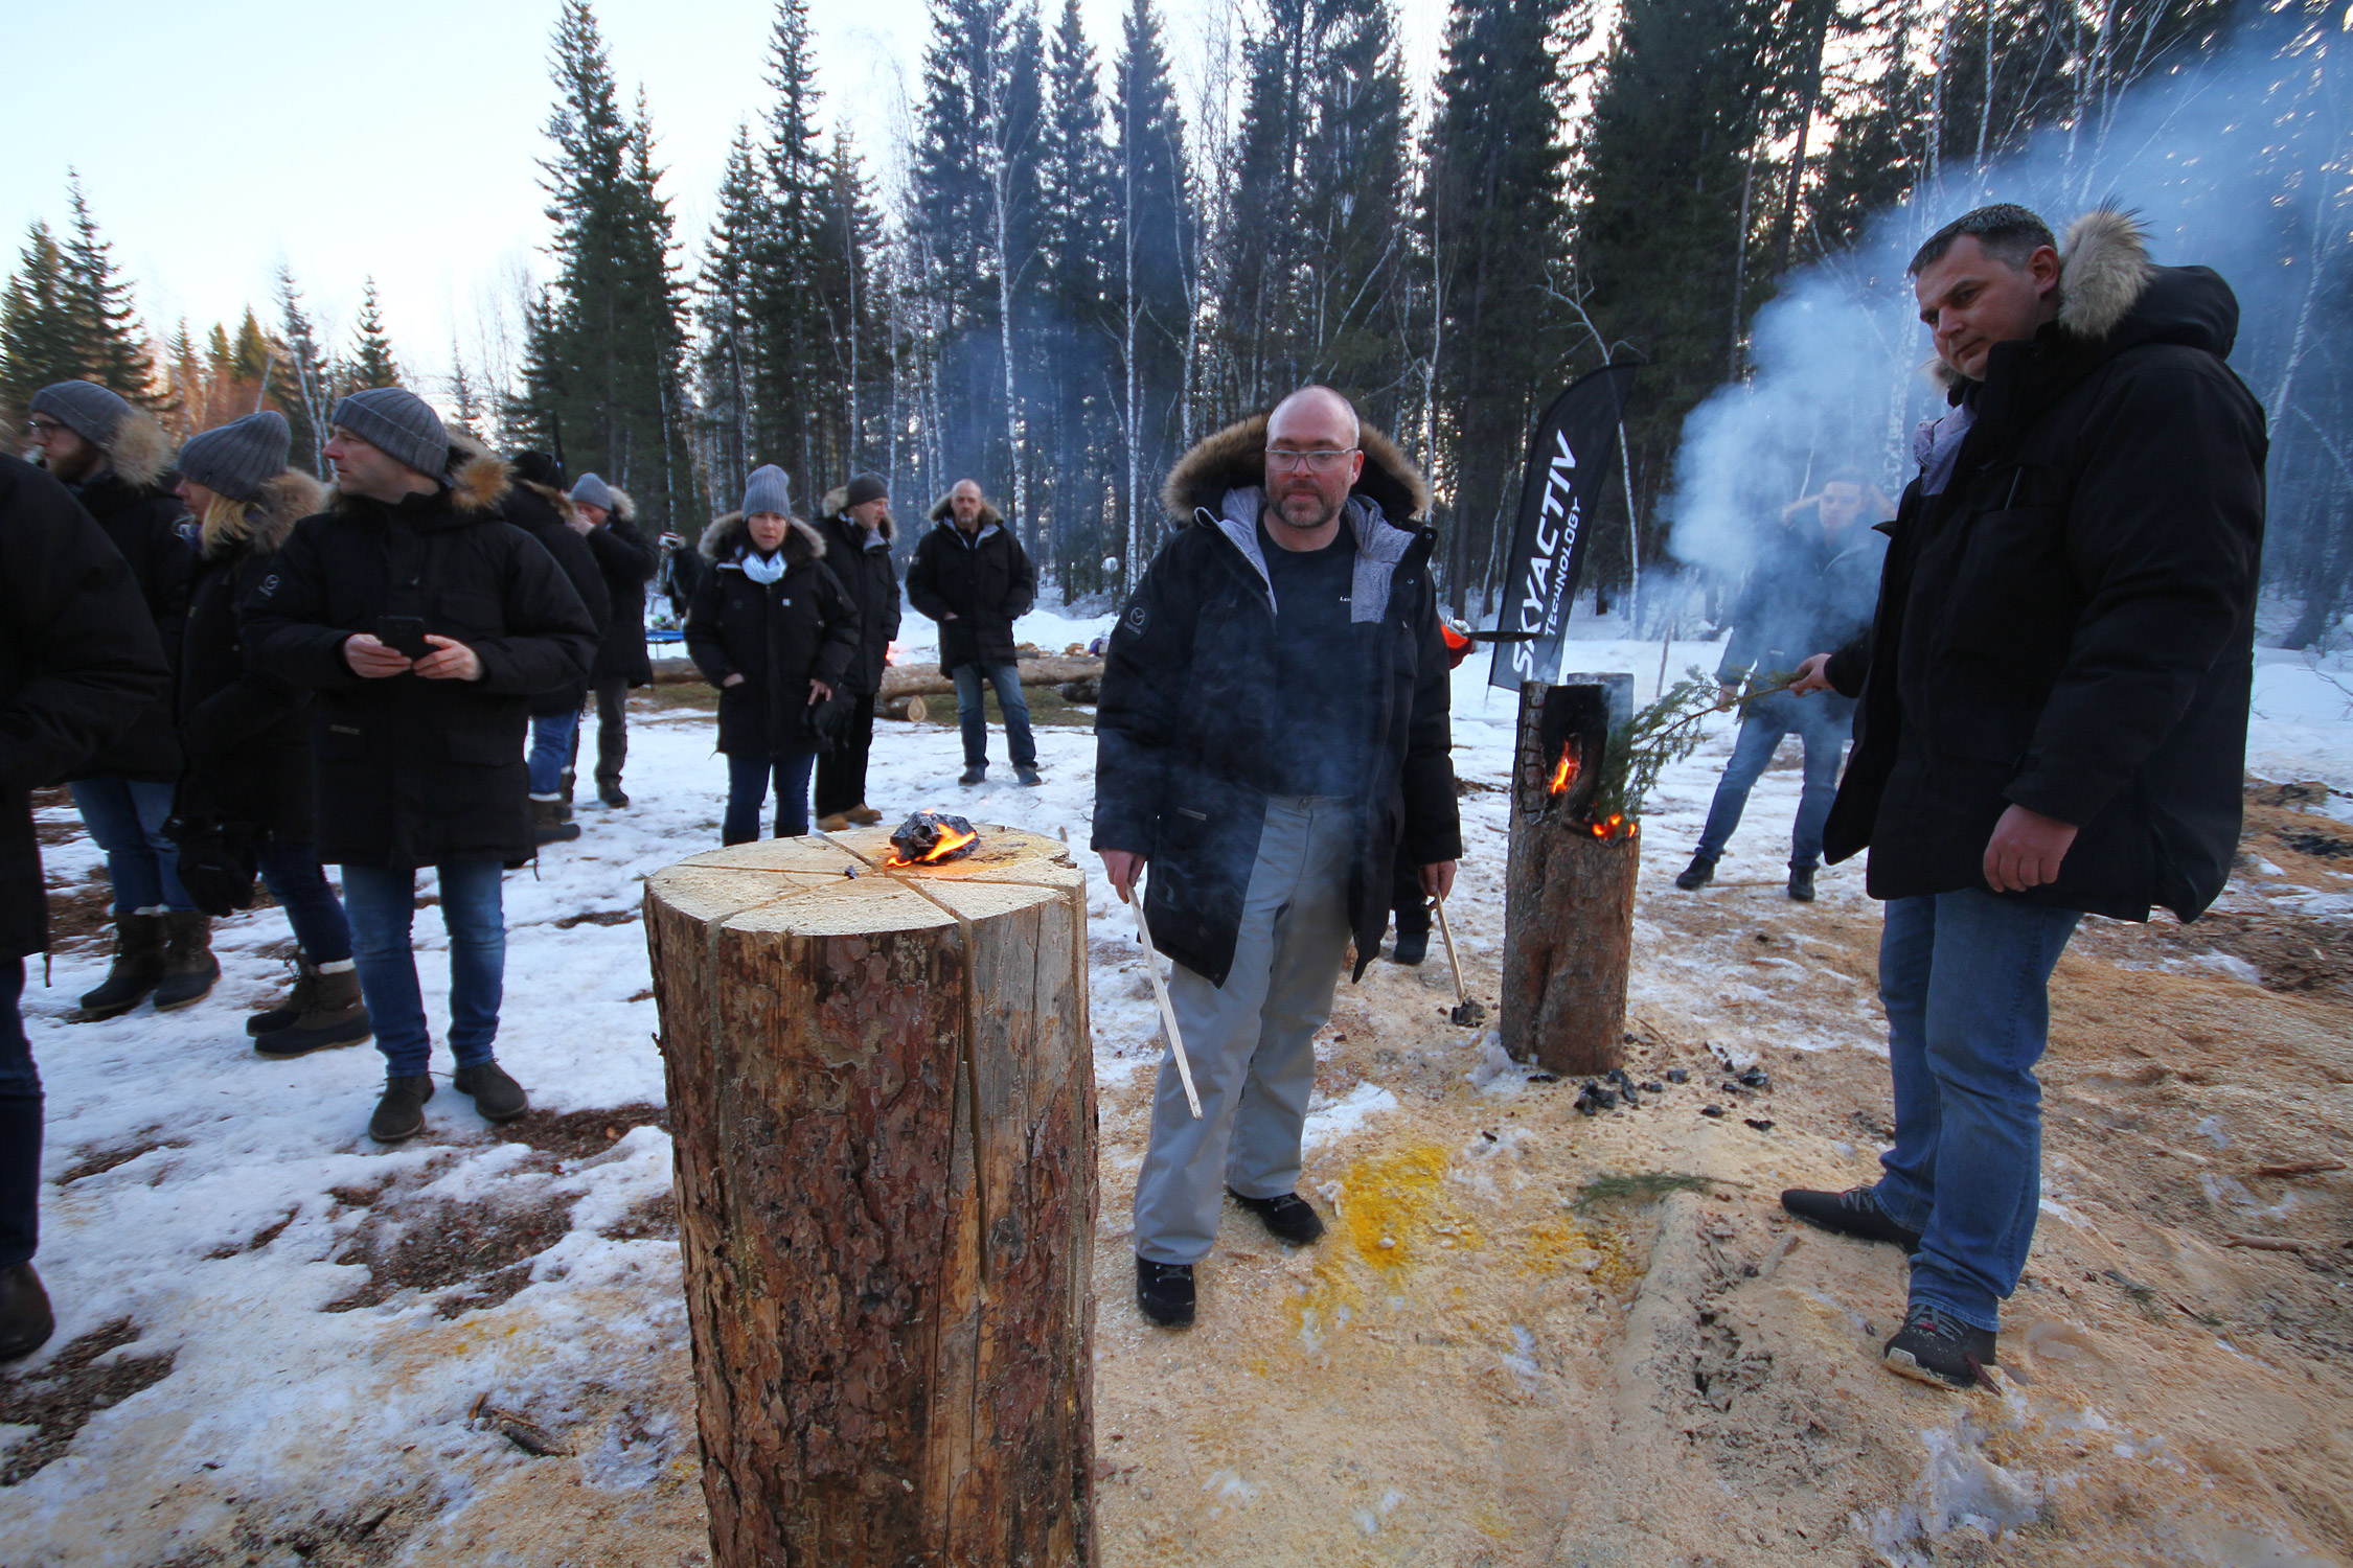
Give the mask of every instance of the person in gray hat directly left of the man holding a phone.
[(311, 693), (252, 665), (238, 604), (261, 585), (294, 524), (327, 489), (287, 468), (294, 433), (264, 409), (191, 437), (179, 498), (198, 520), (195, 585), (179, 656), (188, 771), (176, 816), (235, 823), (299, 947), (294, 994), (245, 1020), (261, 1056), (355, 1046), (369, 1034), (351, 924), (318, 863), (311, 813)]

